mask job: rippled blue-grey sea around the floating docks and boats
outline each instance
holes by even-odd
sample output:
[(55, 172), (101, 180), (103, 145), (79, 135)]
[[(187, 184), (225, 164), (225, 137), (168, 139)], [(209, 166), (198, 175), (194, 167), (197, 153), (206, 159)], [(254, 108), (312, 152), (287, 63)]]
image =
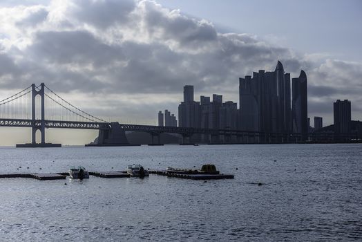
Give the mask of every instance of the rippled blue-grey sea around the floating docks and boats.
[(1, 178), (0, 240), (362, 241), (362, 145), (0, 148), (1, 174), (133, 163), (235, 179)]

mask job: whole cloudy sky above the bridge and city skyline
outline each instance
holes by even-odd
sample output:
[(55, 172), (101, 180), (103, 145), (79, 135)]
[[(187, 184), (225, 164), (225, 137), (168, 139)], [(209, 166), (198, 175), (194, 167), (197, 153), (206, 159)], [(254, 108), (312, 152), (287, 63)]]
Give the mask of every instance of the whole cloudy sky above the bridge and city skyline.
[[(238, 78), (280, 60), (292, 77), (307, 73), (312, 120), (332, 124), (337, 99), (351, 100), (352, 119), (362, 120), (361, 26), (357, 0), (4, 0), (0, 100), (45, 82), (93, 115), (156, 124), (159, 110), (177, 115), (184, 85), (196, 100), (238, 102)], [(0, 145), (29, 142), (15, 129), (0, 128)], [(47, 131), (69, 145), (95, 136)]]

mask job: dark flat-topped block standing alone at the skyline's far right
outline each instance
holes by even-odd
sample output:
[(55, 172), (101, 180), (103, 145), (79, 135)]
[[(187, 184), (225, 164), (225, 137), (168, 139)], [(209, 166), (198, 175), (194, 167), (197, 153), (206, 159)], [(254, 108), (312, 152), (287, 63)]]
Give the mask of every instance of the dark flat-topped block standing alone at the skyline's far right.
[(351, 102), (336, 100), (333, 103), (334, 132), (351, 133)]

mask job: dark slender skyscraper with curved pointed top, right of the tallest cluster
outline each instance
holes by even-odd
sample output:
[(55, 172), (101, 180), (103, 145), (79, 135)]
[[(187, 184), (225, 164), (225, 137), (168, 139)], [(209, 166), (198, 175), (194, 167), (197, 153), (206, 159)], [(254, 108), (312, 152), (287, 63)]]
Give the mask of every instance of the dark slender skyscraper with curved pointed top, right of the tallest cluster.
[(302, 139), (307, 140), (308, 110), (307, 110), (307, 75), (302, 70), (298, 78), (292, 79), (292, 116), (293, 131), (302, 133)]

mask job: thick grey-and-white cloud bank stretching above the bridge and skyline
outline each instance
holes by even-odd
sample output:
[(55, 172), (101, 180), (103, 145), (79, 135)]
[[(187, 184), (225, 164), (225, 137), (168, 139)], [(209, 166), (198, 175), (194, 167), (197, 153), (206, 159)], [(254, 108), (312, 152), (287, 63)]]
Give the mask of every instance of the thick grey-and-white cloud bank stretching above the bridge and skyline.
[[(155, 1), (4, 4), (1, 89), (46, 82), (66, 97), (77, 93), (97, 98), (99, 106), (110, 106), (117, 115), (148, 122), (158, 109), (177, 108), (167, 105), (177, 103), (175, 96), (182, 97), (185, 84), (193, 84), (202, 95), (218, 93), (237, 101), (238, 77), (259, 69), (273, 71), (280, 59), (292, 77), (306, 71), (312, 114), (324, 112), (335, 99), (352, 100), (352, 109), (361, 106), (361, 63), (300, 55), (255, 35), (220, 33), (207, 20)], [(144, 105), (134, 102), (145, 96)], [(127, 102), (133, 108), (124, 108)], [(96, 105), (93, 111), (105, 115)]]

